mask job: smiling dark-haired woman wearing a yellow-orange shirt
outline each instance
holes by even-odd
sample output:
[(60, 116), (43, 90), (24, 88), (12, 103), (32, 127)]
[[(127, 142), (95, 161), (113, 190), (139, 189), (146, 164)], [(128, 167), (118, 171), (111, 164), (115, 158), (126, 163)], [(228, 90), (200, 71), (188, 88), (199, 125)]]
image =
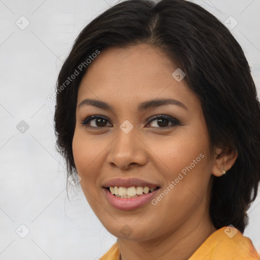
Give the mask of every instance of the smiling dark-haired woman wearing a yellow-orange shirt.
[(229, 30), (183, 0), (130, 0), (80, 33), (57, 81), (68, 177), (118, 238), (103, 260), (259, 259), (243, 236), (260, 106)]

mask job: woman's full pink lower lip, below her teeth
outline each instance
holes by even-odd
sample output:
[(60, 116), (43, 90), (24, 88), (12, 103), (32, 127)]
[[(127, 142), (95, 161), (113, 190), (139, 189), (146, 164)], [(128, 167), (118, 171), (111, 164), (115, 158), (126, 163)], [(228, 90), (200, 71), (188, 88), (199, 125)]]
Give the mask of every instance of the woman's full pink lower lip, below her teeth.
[(133, 209), (140, 208), (145, 204), (147, 204), (149, 201), (151, 201), (152, 198), (156, 195), (159, 188), (157, 188), (153, 192), (144, 194), (137, 198), (131, 198), (131, 199), (117, 198), (106, 188), (103, 188), (103, 190), (106, 194), (107, 200), (114, 208), (119, 210), (133, 210)]

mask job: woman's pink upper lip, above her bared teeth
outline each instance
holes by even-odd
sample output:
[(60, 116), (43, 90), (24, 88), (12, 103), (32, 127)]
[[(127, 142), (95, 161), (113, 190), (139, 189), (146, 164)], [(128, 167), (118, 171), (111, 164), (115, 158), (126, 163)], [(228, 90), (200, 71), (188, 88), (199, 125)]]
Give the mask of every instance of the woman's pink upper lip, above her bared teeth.
[(145, 180), (141, 180), (141, 179), (137, 179), (137, 178), (128, 178), (128, 179), (122, 179), (122, 178), (116, 178), (116, 179), (112, 179), (109, 180), (105, 183), (103, 183), (102, 185), (104, 188), (107, 187), (137, 187), (137, 186), (141, 186), (141, 187), (148, 187), (148, 188), (152, 188), (152, 187), (159, 187), (158, 184), (156, 183), (151, 183), (151, 182), (147, 182)]

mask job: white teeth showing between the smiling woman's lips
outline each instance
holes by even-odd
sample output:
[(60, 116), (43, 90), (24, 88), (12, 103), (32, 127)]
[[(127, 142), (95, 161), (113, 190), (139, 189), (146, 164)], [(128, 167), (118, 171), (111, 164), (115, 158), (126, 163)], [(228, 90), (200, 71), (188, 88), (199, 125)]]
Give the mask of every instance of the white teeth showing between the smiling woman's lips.
[(144, 196), (145, 194), (152, 193), (159, 189), (159, 186), (155, 187), (142, 187), (142, 186), (132, 186), (132, 187), (103, 187), (107, 189), (113, 196), (121, 199), (132, 199)]

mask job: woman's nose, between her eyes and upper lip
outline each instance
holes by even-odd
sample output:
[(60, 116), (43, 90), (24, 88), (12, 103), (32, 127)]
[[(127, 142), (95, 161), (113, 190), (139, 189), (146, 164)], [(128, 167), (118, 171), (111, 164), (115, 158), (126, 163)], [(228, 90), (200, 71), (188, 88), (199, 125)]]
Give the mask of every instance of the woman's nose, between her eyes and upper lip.
[(146, 145), (136, 135), (135, 129), (128, 134), (119, 129), (118, 136), (110, 145), (107, 163), (123, 170), (143, 166), (147, 162), (146, 149)]

